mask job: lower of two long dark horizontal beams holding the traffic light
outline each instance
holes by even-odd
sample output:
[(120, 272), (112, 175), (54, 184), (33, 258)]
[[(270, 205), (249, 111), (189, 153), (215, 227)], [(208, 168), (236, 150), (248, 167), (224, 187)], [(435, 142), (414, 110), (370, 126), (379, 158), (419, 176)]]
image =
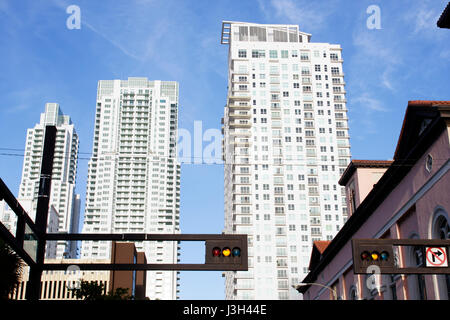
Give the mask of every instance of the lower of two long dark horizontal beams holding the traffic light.
[(131, 270), (173, 270), (173, 271), (247, 271), (247, 268), (236, 264), (111, 264), (111, 263), (44, 263), (43, 270), (67, 270), (69, 266), (77, 266), (80, 270), (91, 271), (131, 271)]

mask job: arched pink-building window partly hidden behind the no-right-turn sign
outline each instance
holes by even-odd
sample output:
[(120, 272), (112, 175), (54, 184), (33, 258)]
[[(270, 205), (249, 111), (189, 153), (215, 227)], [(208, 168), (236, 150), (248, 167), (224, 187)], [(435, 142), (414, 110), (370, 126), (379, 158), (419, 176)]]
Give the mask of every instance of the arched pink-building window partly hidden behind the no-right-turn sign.
[[(448, 214), (441, 208), (433, 215), (431, 237), (433, 239), (450, 239), (450, 227)], [(436, 275), (435, 288), (437, 288), (436, 298), (439, 300), (450, 300), (450, 275)]]

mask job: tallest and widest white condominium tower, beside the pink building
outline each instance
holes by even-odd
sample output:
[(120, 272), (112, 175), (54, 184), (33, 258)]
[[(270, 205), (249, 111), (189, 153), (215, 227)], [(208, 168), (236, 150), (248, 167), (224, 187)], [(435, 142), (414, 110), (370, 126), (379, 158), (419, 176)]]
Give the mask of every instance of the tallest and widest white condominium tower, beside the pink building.
[(296, 25), (222, 24), (225, 233), (249, 235), (249, 269), (225, 273), (227, 299), (299, 299), (312, 242), (347, 216), (341, 47), (310, 39)]

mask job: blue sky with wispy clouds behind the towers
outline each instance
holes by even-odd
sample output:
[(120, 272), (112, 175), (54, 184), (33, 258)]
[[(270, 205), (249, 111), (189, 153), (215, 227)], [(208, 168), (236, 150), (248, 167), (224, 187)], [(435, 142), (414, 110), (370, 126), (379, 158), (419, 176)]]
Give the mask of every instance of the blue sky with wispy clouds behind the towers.
[[(226, 103), (223, 20), (297, 24), (313, 42), (343, 48), (353, 159), (390, 159), (408, 100), (449, 100), (450, 30), (436, 21), (447, 1), (0, 0), (0, 177), (17, 194), (26, 129), (46, 102), (80, 136), (77, 192), (84, 200), (97, 81), (130, 76), (180, 84), (179, 127), (220, 129)], [(69, 5), (81, 29), (66, 27)], [(370, 5), (381, 29), (367, 28)], [(83, 207), (84, 209), (84, 201)], [(182, 233), (220, 233), (223, 167), (182, 165)], [(182, 262), (203, 251), (182, 243)], [(200, 253), (199, 253), (200, 252)], [(194, 261), (192, 261), (194, 260)], [(183, 272), (181, 299), (223, 299), (220, 272)]]

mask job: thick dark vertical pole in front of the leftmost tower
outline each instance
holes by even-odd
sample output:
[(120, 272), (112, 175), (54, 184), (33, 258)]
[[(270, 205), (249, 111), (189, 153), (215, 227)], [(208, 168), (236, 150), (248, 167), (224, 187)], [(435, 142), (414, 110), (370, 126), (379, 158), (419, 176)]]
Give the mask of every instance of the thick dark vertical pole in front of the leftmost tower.
[(53, 157), (55, 154), (56, 127), (46, 126), (44, 150), (42, 153), (41, 176), (37, 199), (35, 226), (37, 231), (36, 265), (30, 267), (27, 300), (39, 300), (41, 293), (41, 275), (45, 259), (48, 208), (50, 201)]

